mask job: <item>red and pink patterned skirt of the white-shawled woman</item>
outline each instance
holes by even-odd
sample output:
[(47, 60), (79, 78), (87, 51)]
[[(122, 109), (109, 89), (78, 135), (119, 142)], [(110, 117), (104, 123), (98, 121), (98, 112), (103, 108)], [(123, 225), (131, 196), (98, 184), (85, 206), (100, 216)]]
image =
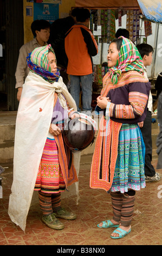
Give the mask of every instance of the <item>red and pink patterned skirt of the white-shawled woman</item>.
[(58, 193), (64, 191), (65, 187), (55, 139), (47, 138), (34, 190)]

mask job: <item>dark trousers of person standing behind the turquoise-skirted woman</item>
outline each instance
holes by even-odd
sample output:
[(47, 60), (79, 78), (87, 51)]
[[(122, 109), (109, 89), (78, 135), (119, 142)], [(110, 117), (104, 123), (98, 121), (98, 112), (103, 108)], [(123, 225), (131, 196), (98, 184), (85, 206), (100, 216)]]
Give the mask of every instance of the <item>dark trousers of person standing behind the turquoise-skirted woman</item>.
[(154, 176), (155, 169), (151, 164), (152, 161), (152, 137), (151, 137), (151, 129), (152, 129), (152, 114), (147, 109), (147, 115), (144, 120), (144, 126), (141, 128), (141, 133), (145, 143), (145, 175)]

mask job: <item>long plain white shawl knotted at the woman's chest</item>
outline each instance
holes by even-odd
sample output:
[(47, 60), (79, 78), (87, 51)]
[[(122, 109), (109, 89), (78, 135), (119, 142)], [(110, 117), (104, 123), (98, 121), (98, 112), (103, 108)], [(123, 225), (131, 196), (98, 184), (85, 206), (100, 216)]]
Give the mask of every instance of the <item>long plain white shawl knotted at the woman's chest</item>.
[[(23, 231), (51, 123), (54, 95), (55, 92), (61, 93), (61, 91), (69, 106), (76, 111), (75, 101), (63, 83), (62, 77), (58, 82), (50, 84), (30, 71), (23, 85), (16, 118), (14, 179), (8, 210), (12, 222), (19, 225)], [(60, 97), (59, 100), (61, 101)]]

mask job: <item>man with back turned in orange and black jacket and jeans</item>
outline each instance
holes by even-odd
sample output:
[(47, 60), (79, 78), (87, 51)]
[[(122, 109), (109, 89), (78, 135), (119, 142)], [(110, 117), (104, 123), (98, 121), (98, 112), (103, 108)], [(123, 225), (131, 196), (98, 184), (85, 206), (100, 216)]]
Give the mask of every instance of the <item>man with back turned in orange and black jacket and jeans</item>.
[(80, 8), (76, 14), (76, 24), (70, 28), (65, 38), (65, 51), (68, 57), (67, 74), (70, 75), (70, 94), (79, 108), (80, 84), (82, 89), (82, 111), (92, 112), (92, 56), (98, 53), (98, 45), (89, 26), (88, 9)]

